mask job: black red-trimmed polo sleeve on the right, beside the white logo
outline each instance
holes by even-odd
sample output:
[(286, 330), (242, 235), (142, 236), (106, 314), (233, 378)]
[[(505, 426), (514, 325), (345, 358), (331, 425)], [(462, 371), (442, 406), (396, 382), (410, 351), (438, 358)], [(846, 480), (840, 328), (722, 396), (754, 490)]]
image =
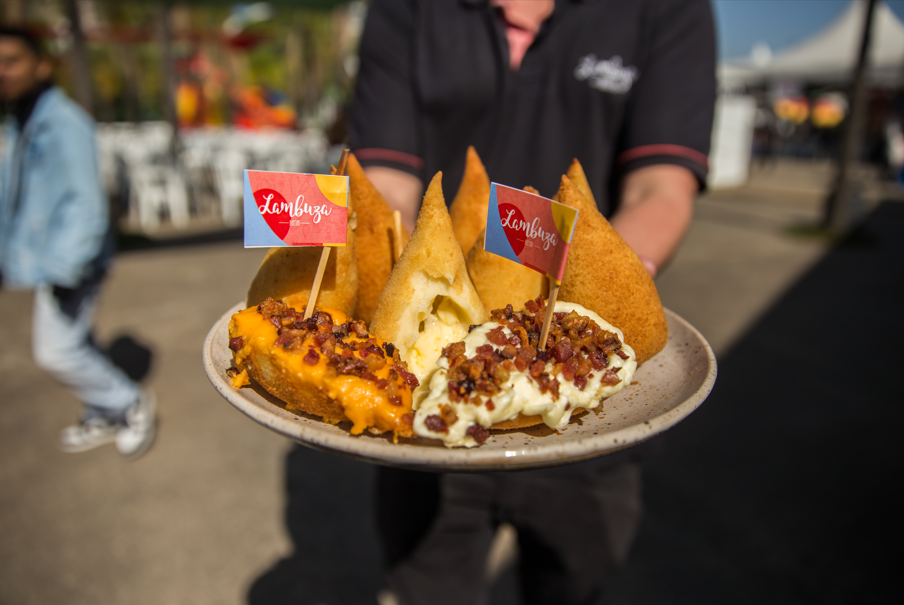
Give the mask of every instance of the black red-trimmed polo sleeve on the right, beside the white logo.
[(647, 56), (616, 155), (621, 175), (676, 164), (706, 184), (716, 99), (715, 27), (706, 0), (655, 3)]

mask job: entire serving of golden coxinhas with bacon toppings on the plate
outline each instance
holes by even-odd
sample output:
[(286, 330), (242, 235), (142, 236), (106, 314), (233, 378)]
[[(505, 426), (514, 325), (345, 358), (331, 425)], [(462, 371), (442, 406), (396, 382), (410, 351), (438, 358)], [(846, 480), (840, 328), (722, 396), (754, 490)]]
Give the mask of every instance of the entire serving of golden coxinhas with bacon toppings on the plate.
[[(596, 210), (577, 161), (555, 196), (581, 210), (581, 218), (545, 350), (529, 329), (545, 305), (535, 296), (545, 280), (484, 251), (479, 234), (465, 254), (454, 217), (468, 213), (450, 217), (441, 174), (393, 263), (391, 212), (360, 165), (349, 164), (349, 245), (333, 255), (318, 299), (323, 306), (310, 320), (296, 310), (307, 302), (319, 248), (271, 250), (249, 290), (249, 308), (230, 325), (236, 386), (250, 375), (288, 408), (328, 422), (349, 420), (354, 434), (420, 434), (471, 446), (489, 430), (561, 426), (575, 410), (590, 409), (621, 388), (633, 367), (664, 346), (668, 331), (652, 279)], [(468, 164), (453, 210), (455, 204), (473, 207), (475, 192), (488, 190), (476, 152), (469, 151)], [(375, 217), (366, 228), (359, 222), (362, 208)], [(469, 229), (482, 232), (485, 209), (482, 214)], [(365, 232), (371, 243), (359, 249)], [(512, 282), (518, 271), (534, 280)], [(373, 279), (363, 287), (365, 272)], [(380, 291), (370, 330), (361, 316), (349, 319), (367, 313), (362, 288), (371, 296)], [(490, 300), (497, 307), (492, 318), (482, 302)], [(512, 402), (520, 391), (532, 395), (518, 408)]]

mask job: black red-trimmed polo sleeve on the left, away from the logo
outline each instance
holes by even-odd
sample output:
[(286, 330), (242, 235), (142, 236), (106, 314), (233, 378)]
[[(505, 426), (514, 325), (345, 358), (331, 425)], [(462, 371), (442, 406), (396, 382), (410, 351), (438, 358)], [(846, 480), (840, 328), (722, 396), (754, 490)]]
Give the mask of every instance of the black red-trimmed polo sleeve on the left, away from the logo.
[(374, 0), (361, 37), (350, 146), (363, 166), (386, 166), (423, 180), (413, 48), (414, 0)]

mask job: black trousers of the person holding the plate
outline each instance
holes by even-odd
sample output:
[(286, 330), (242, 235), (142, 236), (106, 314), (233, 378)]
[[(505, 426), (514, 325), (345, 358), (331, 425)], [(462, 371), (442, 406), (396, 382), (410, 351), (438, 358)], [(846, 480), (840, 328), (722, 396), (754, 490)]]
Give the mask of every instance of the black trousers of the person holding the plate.
[(495, 530), (518, 531), (527, 605), (589, 605), (627, 556), (643, 514), (641, 469), (598, 459), (553, 469), (436, 474), (380, 468), (377, 525), (402, 605), (486, 603)]

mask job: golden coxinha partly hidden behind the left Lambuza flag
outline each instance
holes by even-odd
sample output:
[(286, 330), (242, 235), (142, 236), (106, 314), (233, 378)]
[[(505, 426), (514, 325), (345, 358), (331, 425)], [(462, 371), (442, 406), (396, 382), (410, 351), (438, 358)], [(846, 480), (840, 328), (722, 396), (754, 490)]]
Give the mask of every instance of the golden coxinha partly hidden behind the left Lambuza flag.
[[(317, 296), (318, 307), (336, 309), (350, 316), (358, 295), (354, 223), (354, 216), (350, 213), (346, 245), (337, 246), (330, 252)], [(304, 310), (322, 250), (319, 246), (270, 248), (248, 288), (248, 306), (257, 305), (269, 297)]]

